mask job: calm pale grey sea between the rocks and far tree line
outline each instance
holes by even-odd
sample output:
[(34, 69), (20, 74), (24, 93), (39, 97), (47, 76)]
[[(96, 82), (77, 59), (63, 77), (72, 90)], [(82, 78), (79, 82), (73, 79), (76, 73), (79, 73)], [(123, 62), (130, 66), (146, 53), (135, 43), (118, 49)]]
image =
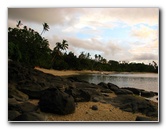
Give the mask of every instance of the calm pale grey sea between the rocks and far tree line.
[(111, 82), (119, 87), (133, 87), (158, 92), (158, 74), (155, 73), (114, 73), (77, 75), (81, 80), (98, 84)]

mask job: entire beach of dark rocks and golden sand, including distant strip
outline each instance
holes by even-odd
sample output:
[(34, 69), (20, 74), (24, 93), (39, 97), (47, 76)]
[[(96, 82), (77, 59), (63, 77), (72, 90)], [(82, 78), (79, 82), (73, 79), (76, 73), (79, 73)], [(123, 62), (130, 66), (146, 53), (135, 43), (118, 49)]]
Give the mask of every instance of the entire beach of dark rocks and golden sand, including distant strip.
[(9, 121), (158, 121), (158, 103), (139, 96), (139, 89), (62, 77), (90, 71), (35, 69), (9, 63)]

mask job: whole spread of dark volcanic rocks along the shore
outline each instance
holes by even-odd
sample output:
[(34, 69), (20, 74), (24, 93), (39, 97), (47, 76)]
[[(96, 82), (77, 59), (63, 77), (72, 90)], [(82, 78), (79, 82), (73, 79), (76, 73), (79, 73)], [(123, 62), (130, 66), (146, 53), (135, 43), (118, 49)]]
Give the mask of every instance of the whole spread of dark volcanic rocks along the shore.
[[(8, 62), (9, 121), (46, 121), (41, 112), (60, 116), (73, 114), (81, 102), (110, 104), (124, 112), (145, 116), (137, 116), (135, 121), (158, 121), (158, 104), (145, 99), (156, 95), (158, 93), (142, 89), (119, 88), (112, 83), (96, 85), (74, 77), (54, 76)], [(38, 103), (30, 100), (38, 100)], [(89, 110), (99, 108), (94, 104)]]

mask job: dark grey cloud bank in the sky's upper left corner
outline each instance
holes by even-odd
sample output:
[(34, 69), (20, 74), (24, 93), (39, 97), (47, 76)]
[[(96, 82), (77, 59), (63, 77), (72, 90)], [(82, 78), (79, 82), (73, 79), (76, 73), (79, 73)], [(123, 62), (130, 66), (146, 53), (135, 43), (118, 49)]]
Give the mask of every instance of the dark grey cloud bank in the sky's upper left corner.
[[(73, 22), (77, 8), (9, 8), (8, 18), (13, 20), (25, 20), (34, 23), (47, 22), (50, 25), (66, 24)], [(80, 12), (80, 11), (79, 11)]]

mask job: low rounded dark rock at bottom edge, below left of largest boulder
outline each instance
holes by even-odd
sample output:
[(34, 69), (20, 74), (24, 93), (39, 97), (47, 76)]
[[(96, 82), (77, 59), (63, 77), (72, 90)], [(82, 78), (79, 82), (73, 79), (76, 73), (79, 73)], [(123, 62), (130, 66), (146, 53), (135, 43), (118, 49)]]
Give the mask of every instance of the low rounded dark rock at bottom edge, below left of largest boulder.
[(35, 112), (24, 113), (16, 117), (13, 121), (44, 121), (43, 115)]

